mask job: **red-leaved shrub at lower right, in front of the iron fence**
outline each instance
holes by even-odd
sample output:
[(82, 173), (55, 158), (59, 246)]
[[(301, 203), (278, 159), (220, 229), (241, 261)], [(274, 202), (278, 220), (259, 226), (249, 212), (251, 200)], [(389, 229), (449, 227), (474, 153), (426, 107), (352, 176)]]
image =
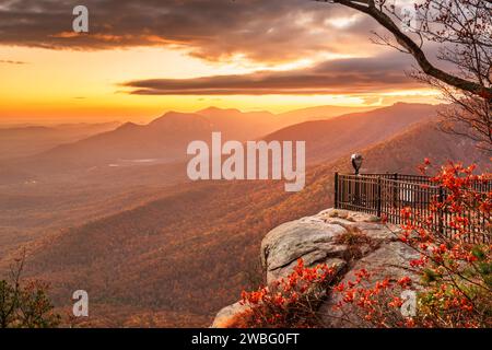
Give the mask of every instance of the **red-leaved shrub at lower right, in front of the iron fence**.
[[(426, 160), (423, 167), (429, 165)], [(359, 272), (351, 285), (333, 287), (333, 292), (341, 294), (336, 308), (344, 315), (358, 315), (365, 326), (492, 326), (492, 191), (477, 190), (491, 176), (473, 175), (473, 168), (449, 163), (440, 170), (432, 182), (446, 196), (444, 200), (434, 198), (427, 217), (411, 208), (401, 210), (400, 241), (420, 253), (420, 258), (409, 261), (422, 279), (415, 315), (405, 317), (399, 312), (402, 300), (398, 289), (410, 287), (410, 278), (374, 284), (368, 283), (367, 271)], [(447, 213), (446, 225), (452, 228), (448, 232), (436, 230), (443, 212)], [(479, 232), (480, 226), (483, 231)]]

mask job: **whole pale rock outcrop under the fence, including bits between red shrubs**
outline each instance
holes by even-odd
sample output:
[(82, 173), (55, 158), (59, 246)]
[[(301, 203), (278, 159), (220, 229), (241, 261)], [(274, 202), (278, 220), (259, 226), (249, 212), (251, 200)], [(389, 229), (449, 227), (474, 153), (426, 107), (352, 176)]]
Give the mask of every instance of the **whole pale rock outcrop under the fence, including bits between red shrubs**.
[[(353, 271), (362, 268), (372, 271), (375, 279), (409, 276), (406, 266), (418, 255), (398, 241), (398, 232), (397, 226), (382, 224), (373, 215), (338, 209), (284, 223), (270, 231), (261, 243), (267, 283), (289, 276), (300, 258), (307, 267), (325, 262), (333, 266), (342, 282), (353, 280)], [(348, 326), (329, 317), (335, 302), (327, 298), (321, 304), (320, 314), (327, 315), (326, 326)], [(227, 325), (246, 307), (239, 303), (224, 307), (212, 327)]]

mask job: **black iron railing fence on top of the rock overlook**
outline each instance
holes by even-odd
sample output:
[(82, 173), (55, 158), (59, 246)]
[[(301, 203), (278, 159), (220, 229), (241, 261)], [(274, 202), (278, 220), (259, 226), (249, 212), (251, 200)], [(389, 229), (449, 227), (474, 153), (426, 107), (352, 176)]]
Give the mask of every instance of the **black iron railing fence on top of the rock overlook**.
[[(492, 182), (477, 182), (472, 190), (485, 194)], [(412, 220), (425, 220), (430, 229), (452, 236), (457, 232), (453, 215), (445, 209), (432, 210), (433, 202), (444, 202), (445, 188), (426, 176), (402, 174), (335, 174), (335, 208), (385, 217), (388, 222), (402, 223), (401, 209), (411, 208)], [(490, 242), (490, 212), (465, 211), (468, 219), (468, 242)], [(427, 220), (431, 219), (431, 220)]]

